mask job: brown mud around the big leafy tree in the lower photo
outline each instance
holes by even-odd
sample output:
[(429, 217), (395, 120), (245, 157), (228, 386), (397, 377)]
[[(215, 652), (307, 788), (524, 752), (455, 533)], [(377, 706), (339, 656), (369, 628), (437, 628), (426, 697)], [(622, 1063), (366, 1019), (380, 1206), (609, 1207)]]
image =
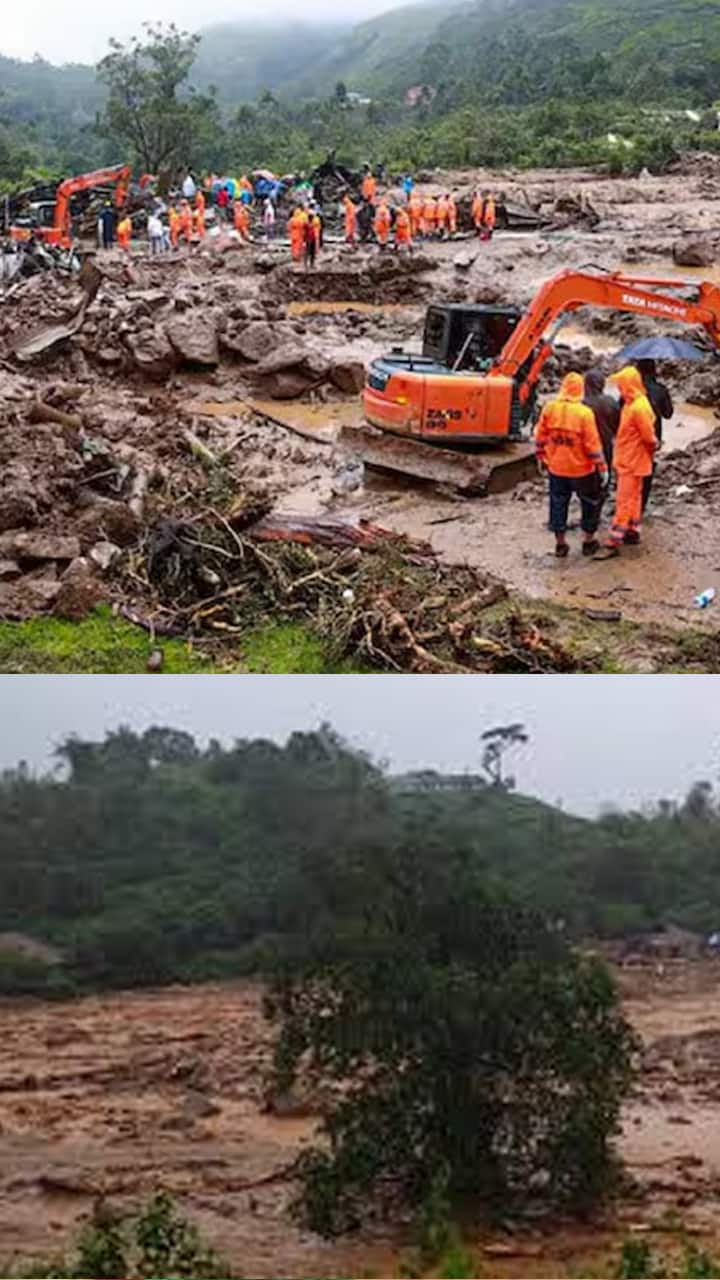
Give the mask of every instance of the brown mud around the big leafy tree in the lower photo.
[[(469, 1224), (484, 1274), (610, 1274), (624, 1239), (667, 1248), (678, 1222), (708, 1248), (720, 1243), (720, 966), (644, 964), (620, 982), (644, 1046), (619, 1142), (634, 1189), (582, 1225)], [(129, 1208), (159, 1187), (243, 1275), (388, 1276), (409, 1261), (407, 1226), (329, 1244), (292, 1224), (283, 1170), (315, 1121), (264, 1110), (269, 1037), (256, 987), (6, 1002), (0, 1028), (3, 1274), (67, 1248), (99, 1196)]]

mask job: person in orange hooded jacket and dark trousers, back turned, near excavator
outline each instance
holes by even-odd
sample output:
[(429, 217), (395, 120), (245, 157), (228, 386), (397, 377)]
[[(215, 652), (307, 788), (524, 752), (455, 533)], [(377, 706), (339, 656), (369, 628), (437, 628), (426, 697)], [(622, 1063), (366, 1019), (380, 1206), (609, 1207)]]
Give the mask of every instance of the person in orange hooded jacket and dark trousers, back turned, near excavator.
[(550, 401), (536, 428), (538, 465), (550, 475), (550, 529), (555, 534), (555, 554), (565, 558), (568, 511), (575, 493), (580, 499), (583, 556), (600, 550), (597, 526), (607, 488), (607, 463), (594, 413), (583, 404), (584, 381), (580, 374), (562, 379), (560, 394)]

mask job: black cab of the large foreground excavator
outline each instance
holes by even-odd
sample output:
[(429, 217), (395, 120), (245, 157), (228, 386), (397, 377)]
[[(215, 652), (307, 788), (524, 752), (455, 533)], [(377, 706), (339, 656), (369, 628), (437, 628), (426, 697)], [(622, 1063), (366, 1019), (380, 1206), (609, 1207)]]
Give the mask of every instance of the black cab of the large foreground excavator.
[(430, 306), (425, 316), (423, 356), (456, 371), (487, 369), (500, 356), (523, 312), (516, 307)]

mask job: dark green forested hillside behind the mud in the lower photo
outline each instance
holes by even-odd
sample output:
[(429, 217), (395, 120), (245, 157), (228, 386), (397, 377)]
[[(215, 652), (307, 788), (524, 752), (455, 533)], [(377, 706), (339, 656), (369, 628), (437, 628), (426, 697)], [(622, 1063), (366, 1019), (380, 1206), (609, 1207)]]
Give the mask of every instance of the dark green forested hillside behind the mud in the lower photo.
[(47, 968), (0, 946), (5, 991), (250, 972), (347, 919), (373, 847), (386, 865), (413, 849), (460, 858), (489, 895), (574, 936), (720, 916), (720, 809), (702, 785), (680, 806), (587, 822), (478, 782), (419, 790), (328, 728), (231, 749), (120, 730), (59, 758), (64, 777), (0, 783), (0, 933), (64, 956)]

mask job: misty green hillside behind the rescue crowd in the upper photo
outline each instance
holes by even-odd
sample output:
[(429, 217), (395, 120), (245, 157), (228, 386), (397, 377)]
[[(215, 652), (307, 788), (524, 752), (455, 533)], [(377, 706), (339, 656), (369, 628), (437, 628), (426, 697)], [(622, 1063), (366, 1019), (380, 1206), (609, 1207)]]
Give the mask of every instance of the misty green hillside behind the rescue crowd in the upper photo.
[[(720, 0), (480, 0), (410, 5), (355, 27), (340, 17), (201, 35), (191, 81), (217, 90), (222, 115), (184, 157), (200, 168), (297, 172), (336, 148), (351, 165), (396, 172), (619, 173), (720, 150)], [(96, 123), (94, 68), (0, 59), (0, 189), (118, 159), (118, 140)], [(410, 87), (424, 87), (414, 106)]]

